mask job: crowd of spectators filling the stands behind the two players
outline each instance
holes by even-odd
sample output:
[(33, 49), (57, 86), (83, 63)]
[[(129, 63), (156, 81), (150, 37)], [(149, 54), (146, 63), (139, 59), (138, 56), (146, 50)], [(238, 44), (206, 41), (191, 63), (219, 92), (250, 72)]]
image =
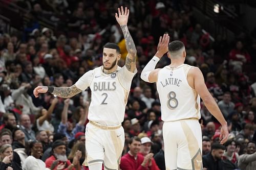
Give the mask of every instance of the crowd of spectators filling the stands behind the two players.
[[(204, 168), (256, 169), (255, 39), (241, 33), (232, 40), (220, 34), (212, 41), (202, 32), (190, 1), (13, 2), (30, 11), (26, 15), (31, 19), (22, 32), (1, 32), (0, 27), (0, 169), (88, 169), (82, 163), (90, 89), (66, 100), (50, 93), (35, 98), (32, 91), (38, 85), (73, 85), (102, 64), (106, 42), (120, 46), (123, 66), (127, 51), (114, 17), (121, 5), (130, 9), (138, 74), (122, 123), (120, 168), (165, 169), (156, 86), (141, 81), (140, 72), (167, 32), (171, 40), (185, 44), (186, 63), (202, 70), (229, 125), (229, 140), (221, 145), (220, 124), (201, 103)], [(55, 22), (57, 29), (41, 27), (38, 16)], [(157, 67), (169, 62), (163, 57)]]

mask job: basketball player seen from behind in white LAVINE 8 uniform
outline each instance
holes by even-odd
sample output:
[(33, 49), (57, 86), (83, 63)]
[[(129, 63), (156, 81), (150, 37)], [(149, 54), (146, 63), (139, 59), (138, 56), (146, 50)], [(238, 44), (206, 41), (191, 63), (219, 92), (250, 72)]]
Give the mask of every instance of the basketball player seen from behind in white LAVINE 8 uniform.
[[(166, 169), (196, 169), (202, 167), (202, 133), (199, 124), (200, 97), (205, 106), (222, 125), (221, 143), (228, 137), (227, 123), (207, 90), (198, 67), (184, 64), (186, 52), (181, 41), (169, 43), (168, 34), (160, 37), (157, 53), (141, 72), (141, 79), (156, 82), (161, 102)], [(168, 52), (168, 53), (167, 53)], [(172, 61), (155, 69), (167, 53)]]

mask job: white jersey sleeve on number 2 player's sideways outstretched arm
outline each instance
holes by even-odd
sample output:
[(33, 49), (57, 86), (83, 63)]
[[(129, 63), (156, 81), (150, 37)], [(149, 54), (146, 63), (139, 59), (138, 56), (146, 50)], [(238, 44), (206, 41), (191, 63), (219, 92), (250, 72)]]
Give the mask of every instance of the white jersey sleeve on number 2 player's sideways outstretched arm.
[(94, 70), (87, 71), (80, 79), (75, 83), (76, 87), (80, 90), (87, 89), (93, 79)]

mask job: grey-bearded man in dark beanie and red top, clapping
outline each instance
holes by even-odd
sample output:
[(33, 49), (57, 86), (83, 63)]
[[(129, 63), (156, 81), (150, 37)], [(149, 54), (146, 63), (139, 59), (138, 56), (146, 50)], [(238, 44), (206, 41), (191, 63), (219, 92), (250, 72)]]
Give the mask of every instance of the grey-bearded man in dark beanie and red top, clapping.
[[(56, 140), (52, 144), (52, 156), (50, 156), (48, 159), (46, 159), (46, 167), (50, 168), (53, 163), (55, 163), (55, 167), (53, 170), (56, 170), (57, 167), (58, 169), (60, 166), (62, 167), (63, 170), (75, 170), (77, 164), (79, 163), (80, 157), (74, 157), (72, 163), (70, 160), (68, 160), (67, 155), (66, 155), (66, 145), (63, 141), (61, 140)], [(57, 162), (56, 162), (57, 160)]]

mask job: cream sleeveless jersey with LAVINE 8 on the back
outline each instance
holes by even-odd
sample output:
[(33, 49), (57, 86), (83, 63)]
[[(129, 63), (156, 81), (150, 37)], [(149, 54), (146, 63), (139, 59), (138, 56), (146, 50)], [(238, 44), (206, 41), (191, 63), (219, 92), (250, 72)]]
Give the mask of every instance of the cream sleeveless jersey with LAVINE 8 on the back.
[(187, 64), (175, 68), (165, 66), (158, 72), (157, 91), (164, 122), (201, 117), (200, 97), (187, 82), (191, 67)]

